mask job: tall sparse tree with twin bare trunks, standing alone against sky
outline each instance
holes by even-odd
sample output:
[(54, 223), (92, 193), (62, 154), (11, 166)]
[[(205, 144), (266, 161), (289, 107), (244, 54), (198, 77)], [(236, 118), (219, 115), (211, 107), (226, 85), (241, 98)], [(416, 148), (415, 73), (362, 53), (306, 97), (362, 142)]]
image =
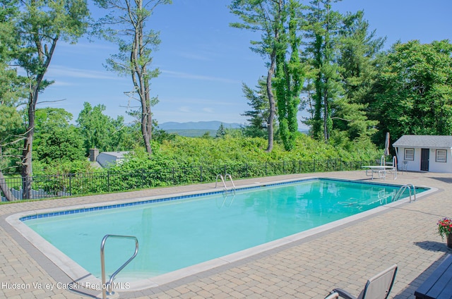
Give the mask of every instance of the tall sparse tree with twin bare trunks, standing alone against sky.
[[(152, 154), (151, 140), (153, 114), (151, 107), (157, 97), (150, 96), (150, 80), (159, 75), (157, 68), (150, 69), (153, 50), (160, 44), (159, 33), (146, 28), (146, 21), (160, 4), (171, 4), (171, 0), (95, 0), (108, 13), (100, 20), (103, 36), (118, 44), (119, 54), (107, 60), (112, 71), (130, 75), (133, 90), (129, 93), (141, 105), (141, 133), (146, 152)], [(138, 97), (135, 97), (135, 94)]]

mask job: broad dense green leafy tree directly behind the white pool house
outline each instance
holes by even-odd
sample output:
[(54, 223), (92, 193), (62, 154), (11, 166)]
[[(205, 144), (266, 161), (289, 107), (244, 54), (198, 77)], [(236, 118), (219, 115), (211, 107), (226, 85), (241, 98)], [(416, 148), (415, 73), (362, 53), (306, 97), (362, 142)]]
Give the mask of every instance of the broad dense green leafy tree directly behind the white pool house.
[(374, 84), (372, 116), (379, 142), (390, 132), (452, 135), (452, 44), (448, 40), (395, 44), (381, 61)]

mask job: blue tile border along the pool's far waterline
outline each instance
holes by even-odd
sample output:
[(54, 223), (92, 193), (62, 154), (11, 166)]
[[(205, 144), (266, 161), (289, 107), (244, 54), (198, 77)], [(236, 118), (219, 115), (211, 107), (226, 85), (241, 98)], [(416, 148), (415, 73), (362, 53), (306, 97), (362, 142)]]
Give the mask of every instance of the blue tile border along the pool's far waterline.
[[(242, 188), (236, 188), (237, 191), (242, 190), (251, 190), (251, 189), (257, 189), (257, 188), (263, 188), (263, 187), (273, 187), (278, 185), (289, 185), (289, 184), (297, 184), (297, 183), (304, 183), (308, 181), (345, 181), (345, 182), (351, 182), (351, 183), (358, 183), (358, 184), (364, 184), (364, 185), (383, 185), (383, 186), (391, 186), (391, 187), (401, 187), (401, 185), (391, 184), (391, 183), (374, 183), (374, 182), (362, 182), (362, 181), (350, 181), (350, 180), (343, 180), (340, 178), (303, 178), (300, 180), (295, 181), (284, 181), (284, 182), (278, 182), (278, 183), (268, 183), (268, 184), (262, 184), (262, 185), (255, 185), (255, 186), (248, 186), (248, 187), (242, 187)], [(424, 189), (428, 190), (429, 188), (419, 188), (416, 187), (416, 189)], [(177, 195), (172, 197), (164, 197), (164, 198), (157, 198), (152, 200), (141, 200), (138, 202), (126, 202), (121, 204), (114, 204), (114, 205), (105, 205), (105, 206), (99, 206), (99, 207), (86, 207), (81, 209), (69, 209), (64, 211), (57, 211), (57, 212), (47, 212), (47, 213), (40, 213), (40, 214), (32, 214), (28, 216), (20, 217), (20, 221), (27, 221), (32, 219), (41, 219), (41, 218), (48, 218), (48, 217), (54, 217), (54, 216), (64, 216), (69, 214), (80, 214), (85, 212), (94, 212), (94, 211), (101, 211), (105, 209), (117, 209), (119, 207), (131, 207), (131, 206), (138, 206), (138, 205), (147, 205), (150, 203), (155, 202), (169, 202), (172, 200), (183, 200), (186, 198), (193, 198), (193, 197), (201, 197), (201, 196), (208, 196), (208, 195), (215, 195), (215, 194), (222, 194), (222, 193), (231, 193), (232, 190), (218, 190), (218, 191), (211, 191), (211, 192), (204, 192), (204, 193), (195, 193), (190, 195)]]

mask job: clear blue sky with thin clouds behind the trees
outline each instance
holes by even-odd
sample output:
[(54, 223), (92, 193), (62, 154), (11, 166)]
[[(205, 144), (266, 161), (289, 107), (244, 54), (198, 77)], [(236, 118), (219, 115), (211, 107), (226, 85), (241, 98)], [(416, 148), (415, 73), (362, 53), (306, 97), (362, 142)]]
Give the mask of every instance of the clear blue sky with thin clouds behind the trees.
[[(161, 74), (151, 81), (151, 93), (160, 99), (153, 107), (159, 123), (246, 123), (240, 115), (249, 109), (242, 83), (255, 86), (266, 68), (261, 56), (249, 49), (249, 41), (259, 39), (258, 33), (230, 28), (237, 18), (229, 12), (229, 4), (229, 0), (174, 0), (155, 9), (148, 26), (160, 30), (162, 40), (153, 55), (153, 67)], [(376, 35), (387, 37), (386, 48), (398, 40), (452, 39), (450, 0), (343, 0), (333, 8), (343, 13), (364, 9)], [(98, 16), (100, 11), (95, 8), (93, 13)], [(47, 73), (55, 83), (40, 94), (38, 108), (64, 108), (75, 120), (83, 102), (105, 104), (105, 114), (131, 121), (126, 107), (138, 105), (124, 95), (131, 90), (131, 79), (103, 66), (115, 53), (117, 47), (102, 40), (60, 42)]]

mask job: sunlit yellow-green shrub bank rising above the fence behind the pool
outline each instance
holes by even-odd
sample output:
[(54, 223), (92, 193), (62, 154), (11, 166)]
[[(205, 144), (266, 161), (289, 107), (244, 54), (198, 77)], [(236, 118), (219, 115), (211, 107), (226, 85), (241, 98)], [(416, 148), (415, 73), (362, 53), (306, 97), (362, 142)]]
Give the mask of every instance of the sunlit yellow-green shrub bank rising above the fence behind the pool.
[[(347, 138), (343, 139), (347, 140)], [(204, 139), (177, 136), (160, 146), (160, 154), (178, 165), (192, 164), (246, 164), (266, 161), (290, 161), (311, 159), (342, 158), (347, 160), (367, 160), (379, 155), (379, 150), (371, 142), (338, 142), (326, 144), (316, 141), (302, 133), (295, 138), (295, 147), (287, 152), (284, 147), (275, 144), (271, 153), (266, 152), (266, 140), (263, 138), (225, 138)]]

